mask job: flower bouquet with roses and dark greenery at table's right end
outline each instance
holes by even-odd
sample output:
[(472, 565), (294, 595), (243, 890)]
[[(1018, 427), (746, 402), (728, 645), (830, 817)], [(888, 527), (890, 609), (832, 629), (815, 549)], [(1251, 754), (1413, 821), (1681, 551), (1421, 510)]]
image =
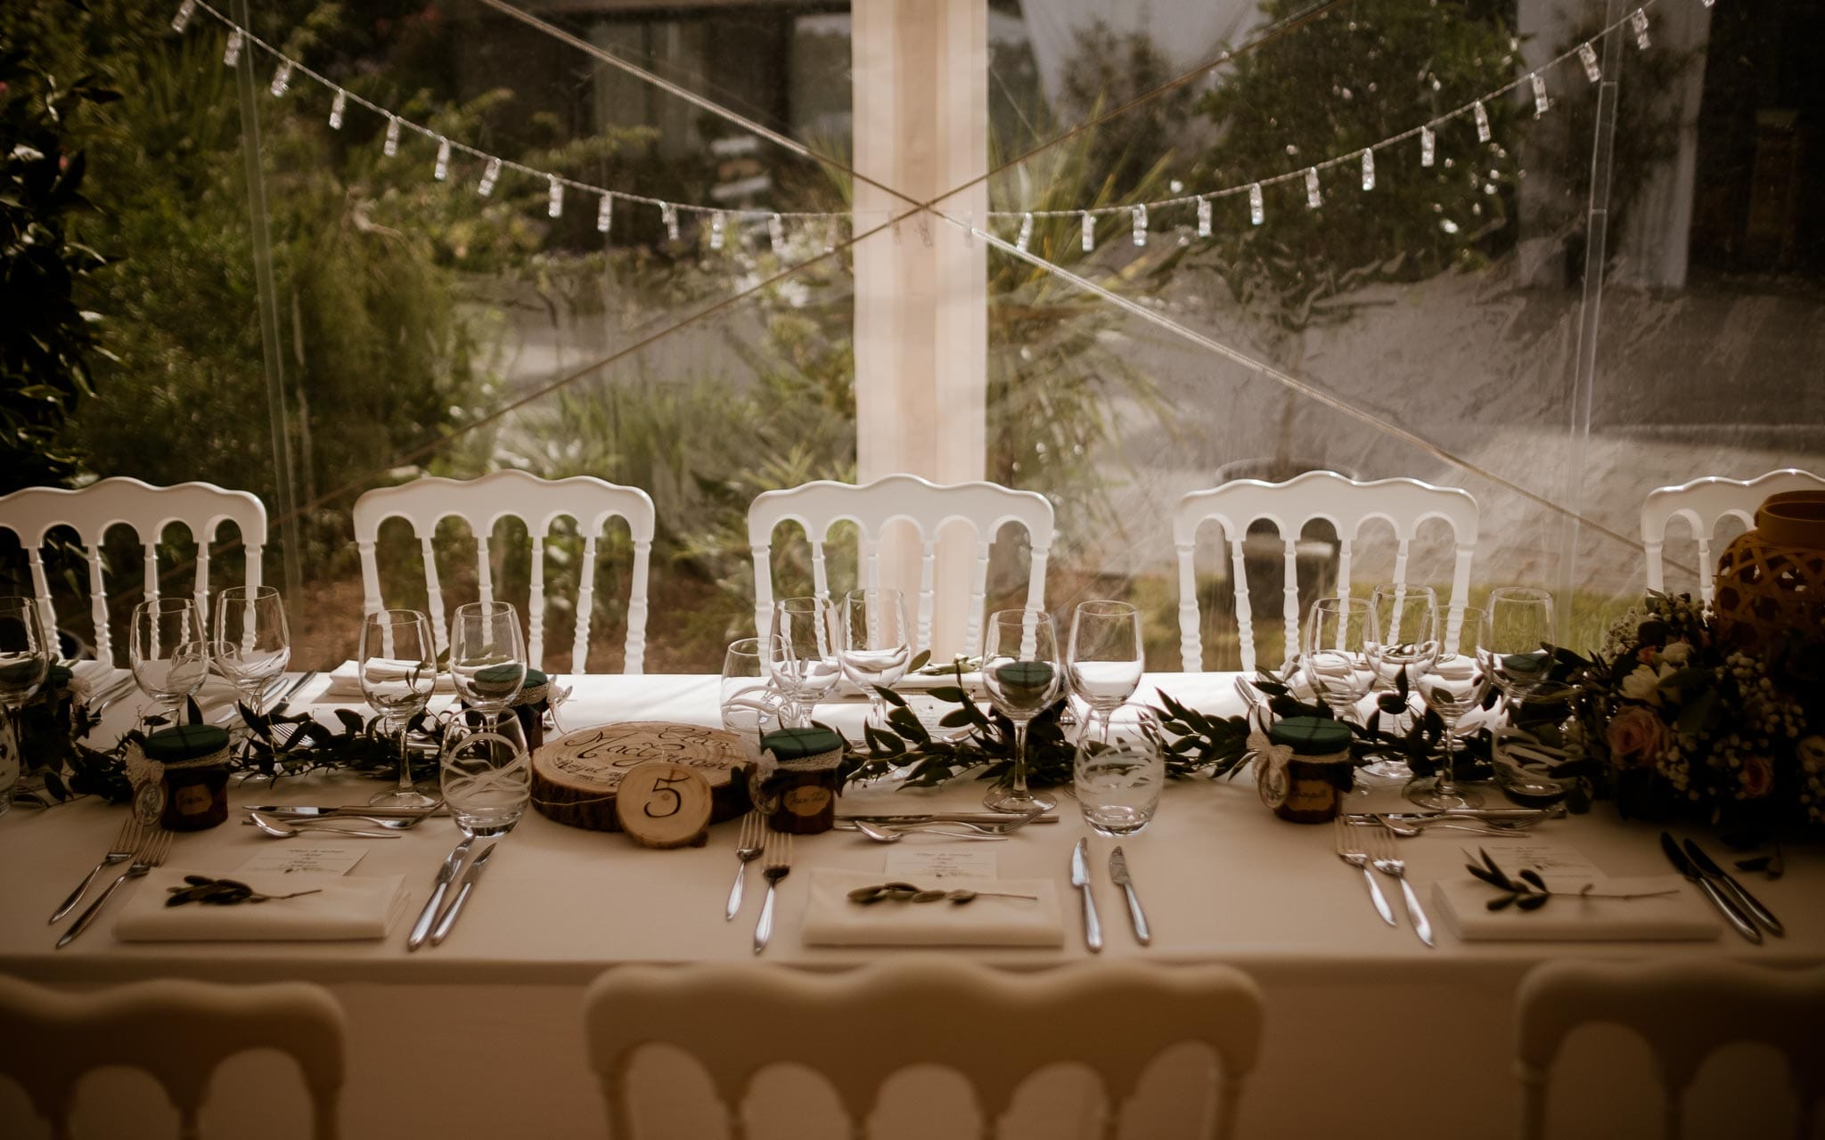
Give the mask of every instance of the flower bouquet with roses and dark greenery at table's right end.
[(1568, 664), (1577, 768), (1624, 815), (1739, 832), (1825, 823), (1825, 644), (1734, 648), (1688, 595), (1655, 593)]

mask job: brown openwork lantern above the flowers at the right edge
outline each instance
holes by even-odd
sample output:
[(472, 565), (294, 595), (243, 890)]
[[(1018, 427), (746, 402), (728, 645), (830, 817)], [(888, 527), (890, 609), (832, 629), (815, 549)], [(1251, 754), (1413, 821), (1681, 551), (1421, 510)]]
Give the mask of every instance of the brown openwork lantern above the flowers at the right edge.
[(1717, 631), (1745, 649), (1825, 644), (1825, 491), (1768, 496), (1717, 560)]

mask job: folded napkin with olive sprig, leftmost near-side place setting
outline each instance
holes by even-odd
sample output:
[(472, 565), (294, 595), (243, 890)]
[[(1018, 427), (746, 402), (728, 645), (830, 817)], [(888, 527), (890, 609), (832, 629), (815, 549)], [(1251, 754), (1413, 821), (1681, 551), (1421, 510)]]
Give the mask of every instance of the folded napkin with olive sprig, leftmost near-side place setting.
[[(237, 903), (214, 907), (184, 903), (166, 907), (172, 886), (182, 886), (184, 876), (206, 874), (246, 883), (270, 896), (312, 890), (296, 899), (266, 903)], [(405, 914), (405, 879), (402, 876), (347, 877), (325, 874), (285, 872), (199, 872), (164, 868), (153, 870), (120, 907), (115, 938), (120, 941), (349, 941), (387, 938), (392, 925)]]

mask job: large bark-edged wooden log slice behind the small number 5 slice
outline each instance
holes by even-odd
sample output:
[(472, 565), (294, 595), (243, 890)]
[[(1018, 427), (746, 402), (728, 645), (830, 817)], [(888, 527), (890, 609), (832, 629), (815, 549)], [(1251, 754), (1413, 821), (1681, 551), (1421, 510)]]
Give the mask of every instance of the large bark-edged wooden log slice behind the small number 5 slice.
[(546, 741), (533, 753), (533, 806), (553, 823), (619, 832), (620, 781), (648, 761), (673, 761), (701, 773), (710, 784), (712, 823), (748, 810), (746, 781), (735, 777), (748, 761), (741, 737), (666, 720), (600, 724)]

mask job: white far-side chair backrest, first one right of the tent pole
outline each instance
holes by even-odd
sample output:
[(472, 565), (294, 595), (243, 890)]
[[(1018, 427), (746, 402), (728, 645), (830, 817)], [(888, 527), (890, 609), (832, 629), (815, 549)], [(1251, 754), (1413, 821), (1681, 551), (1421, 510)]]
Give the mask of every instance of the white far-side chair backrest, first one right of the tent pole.
[(1471, 587), (1471, 558), (1476, 554), (1478, 511), (1469, 491), (1433, 487), (1405, 478), (1363, 483), (1330, 471), (1309, 471), (1285, 483), (1234, 480), (1208, 491), (1192, 491), (1179, 500), (1179, 511), (1172, 520), (1172, 542), (1179, 549), (1179, 657), (1186, 673), (1199, 673), (1204, 668), (1192, 551), (1197, 545), (1197, 525), (1208, 518), (1223, 523), (1223, 533), (1230, 542), (1230, 586), (1236, 591), (1236, 624), (1241, 631), (1245, 673), (1254, 671), (1256, 653), (1243, 540), (1248, 536), (1248, 523), (1257, 518), (1267, 518), (1279, 529), (1279, 542), (1285, 549), (1287, 586), (1281, 611), (1287, 622), (1288, 655), (1296, 653), (1299, 646), (1298, 544), (1299, 529), (1307, 522), (1325, 518), (1338, 529), (1338, 593), (1347, 595), (1350, 589), (1350, 542), (1361, 534), (1365, 522), (1380, 518), (1394, 527), (1392, 580), (1405, 582), (1413, 536), (1427, 518), (1442, 518), (1451, 525), (1456, 544), (1444, 644), (1449, 651), (1456, 651)]

